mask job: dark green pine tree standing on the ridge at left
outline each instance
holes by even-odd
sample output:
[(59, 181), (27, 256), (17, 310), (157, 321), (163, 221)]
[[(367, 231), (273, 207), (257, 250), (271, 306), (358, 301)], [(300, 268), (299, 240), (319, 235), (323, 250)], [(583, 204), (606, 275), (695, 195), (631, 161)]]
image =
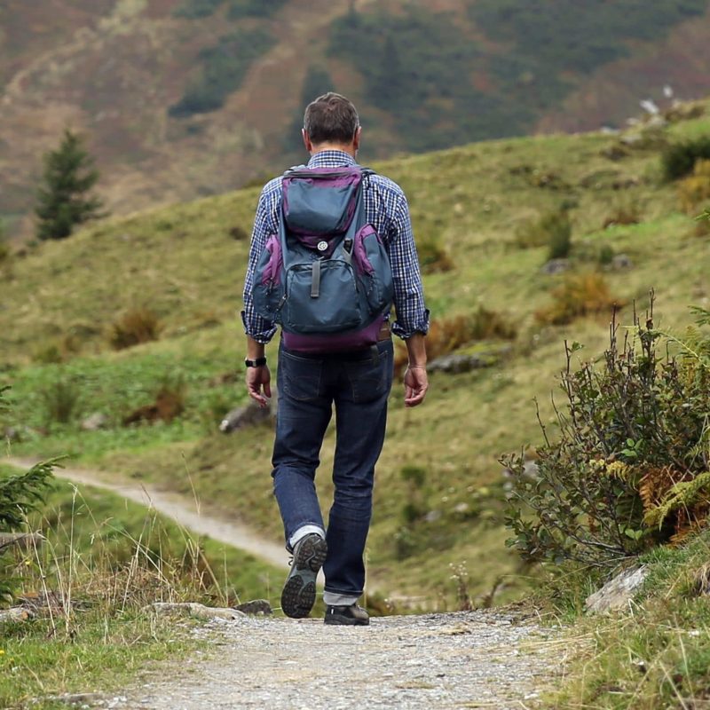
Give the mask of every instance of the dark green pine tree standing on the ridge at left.
[(37, 190), (35, 209), (38, 239), (65, 239), (75, 225), (105, 217), (103, 203), (90, 194), (99, 171), (79, 136), (65, 130), (59, 148), (44, 154), (43, 162), (43, 185)]

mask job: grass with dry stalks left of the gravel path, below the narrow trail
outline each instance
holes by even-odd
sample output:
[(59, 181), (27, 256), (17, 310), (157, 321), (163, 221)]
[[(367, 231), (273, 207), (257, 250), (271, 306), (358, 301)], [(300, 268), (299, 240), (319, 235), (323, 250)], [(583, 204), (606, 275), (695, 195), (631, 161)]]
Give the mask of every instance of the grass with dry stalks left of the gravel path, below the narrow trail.
[[(10, 472), (0, 468), (0, 476)], [(214, 540), (196, 540), (111, 493), (58, 480), (28, 527), (46, 542), (4, 557), (17, 592), (61, 592), (79, 605), (3, 625), (3, 707), (121, 688), (154, 663), (176, 661), (204, 645), (187, 634), (193, 622), (155, 617), (147, 609), (154, 601), (228, 605), (272, 597), (277, 604), (280, 571)], [(61, 705), (43, 700), (35, 706)]]

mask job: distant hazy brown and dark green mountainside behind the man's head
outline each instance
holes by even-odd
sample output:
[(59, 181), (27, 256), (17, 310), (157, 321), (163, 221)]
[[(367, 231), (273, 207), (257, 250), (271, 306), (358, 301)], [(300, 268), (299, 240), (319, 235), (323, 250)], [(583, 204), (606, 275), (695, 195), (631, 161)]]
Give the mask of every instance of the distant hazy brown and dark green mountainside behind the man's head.
[[(710, 89), (706, 0), (8, 0), (0, 218), (28, 217), (41, 154), (83, 132), (118, 214), (224, 193), (300, 149), (304, 102), (353, 99), (380, 158), (623, 122)], [(355, 51), (367, 44), (367, 51)], [(665, 99), (661, 99), (665, 100)], [(286, 152), (286, 155), (284, 154)]]

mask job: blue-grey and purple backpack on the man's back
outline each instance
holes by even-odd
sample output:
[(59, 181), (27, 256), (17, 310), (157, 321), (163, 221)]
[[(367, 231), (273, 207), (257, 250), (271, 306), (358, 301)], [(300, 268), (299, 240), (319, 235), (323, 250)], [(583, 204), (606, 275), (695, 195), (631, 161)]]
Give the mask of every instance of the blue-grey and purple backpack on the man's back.
[(366, 221), (372, 170), (295, 168), (282, 182), (279, 233), (254, 273), (256, 312), (281, 326), (288, 350), (335, 352), (377, 342), (393, 297), (390, 258)]

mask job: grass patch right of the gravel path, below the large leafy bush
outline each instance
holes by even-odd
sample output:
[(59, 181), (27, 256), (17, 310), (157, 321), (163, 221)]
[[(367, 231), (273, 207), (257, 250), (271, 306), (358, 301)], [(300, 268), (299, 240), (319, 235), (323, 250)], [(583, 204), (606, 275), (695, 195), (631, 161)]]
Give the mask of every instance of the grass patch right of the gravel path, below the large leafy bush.
[(710, 535), (681, 548), (659, 548), (629, 611), (576, 619), (570, 645), (579, 648), (558, 708), (701, 708), (710, 699), (710, 596), (694, 578), (706, 566)]

